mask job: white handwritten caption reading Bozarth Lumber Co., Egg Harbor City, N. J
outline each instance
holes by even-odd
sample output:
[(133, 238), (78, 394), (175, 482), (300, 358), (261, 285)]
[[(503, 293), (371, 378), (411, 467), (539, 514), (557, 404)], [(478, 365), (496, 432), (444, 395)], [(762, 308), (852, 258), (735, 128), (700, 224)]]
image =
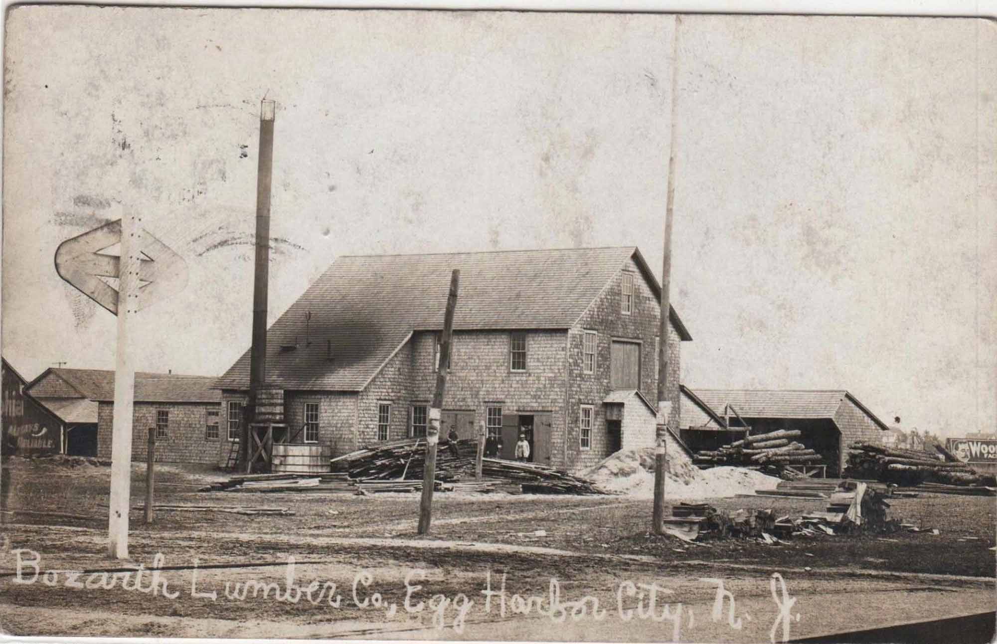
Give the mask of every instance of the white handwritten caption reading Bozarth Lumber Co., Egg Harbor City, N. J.
[[(42, 556), (35, 550), (17, 548), (10, 551), (16, 559), (16, 568), (11, 575), (11, 582), (19, 585), (40, 584), (50, 587), (65, 587), (76, 590), (113, 590), (119, 588), (125, 591), (141, 592), (153, 596), (162, 595), (167, 599), (176, 599), (181, 593), (195, 599), (216, 602), (221, 599), (229, 601), (244, 601), (249, 597), (265, 599), (289, 604), (302, 601), (313, 605), (328, 605), (332, 608), (355, 607), (363, 610), (379, 610), (385, 619), (401, 616), (431, 616), (432, 625), (436, 629), (453, 628), (457, 633), (463, 633), (472, 615), (492, 615), (498, 611), (500, 617), (536, 615), (547, 617), (554, 623), (564, 623), (567, 620), (580, 621), (591, 619), (603, 621), (614, 617), (622, 622), (651, 621), (671, 626), (671, 639), (678, 641), (682, 629), (693, 629), (696, 616), (691, 606), (674, 601), (675, 591), (656, 582), (646, 583), (623, 580), (615, 584), (615, 601), (604, 605), (598, 597), (582, 595), (568, 598), (564, 595), (561, 583), (556, 578), (550, 578), (545, 594), (519, 594), (510, 592), (506, 587), (507, 574), (493, 576), (491, 570), (485, 573), (484, 587), (478, 595), (469, 596), (459, 592), (453, 596), (443, 593), (431, 593), (425, 590), (428, 571), (423, 568), (408, 569), (404, 578), (404, 599), (401, 606), (390, 601), (387, 596), (373, 588), (375, 576), (371, 570), (361, 569), (353, 577), (348, 589), (341, 589), (334, 581), (312, 580), (307, 584), (299, 583), (297, 579), (296, 561), (293, 556), (287, 557), (284, 567), (283, 583), (247, 579), (244, 581), (224, 581), (223, 588), (205, 590), (199, 587), (198, 560), (193, 560), (190, 566), (189, 585), (174, 585), (173, 580), (166, 578), (166, 557), (157, 553), (153, 557), (153, 565), (146, 567), (139, 564), (128, 570), (92, 571), (43, 568)], [(700, 582), (711, 584), (715, 588), (710, 620), (725, 624), (733, 630), (741, 630), (746, 622), (752, 621), (747, 612), (740, 615), (736, 608), (734, 594), (725, 588), (724, 580), (717, 577), (701, 577)], [(181, 590), (182, 587), (182, 590)], [(776, 615), (769, 636), (772, 642), (787, 641), (790, 638), (790, 626), (800, 621), (800, 613), (793, 612), (796, 598), (787, 590), (786, 581), (778, 572), (770, 577), (772, 600), (776, 606)], [(345, 597), (344, 597), (345, 595)], [(671, 601), (666, 601), (671, 600)], [(477, 610), (475, 610), (477, 607)], [(777, 639), (778, 637), (778, 639)]]

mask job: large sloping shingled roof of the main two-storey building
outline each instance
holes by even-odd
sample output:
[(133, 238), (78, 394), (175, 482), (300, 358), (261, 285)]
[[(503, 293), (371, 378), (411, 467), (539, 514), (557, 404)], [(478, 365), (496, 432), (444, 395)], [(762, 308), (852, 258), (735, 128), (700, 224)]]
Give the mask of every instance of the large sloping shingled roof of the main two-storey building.
[[(414, 331), (443, 327), (455, 268), (455, 331), (568, 329), (631, 258), (660, 297), (635, 246), (339, 257), (267, 330), (266, 377), (284, 389), (363, 390)], [(670, 319), (692, 339), (674, 307)], [(246, 389), (249, 357), (215, 386)]]

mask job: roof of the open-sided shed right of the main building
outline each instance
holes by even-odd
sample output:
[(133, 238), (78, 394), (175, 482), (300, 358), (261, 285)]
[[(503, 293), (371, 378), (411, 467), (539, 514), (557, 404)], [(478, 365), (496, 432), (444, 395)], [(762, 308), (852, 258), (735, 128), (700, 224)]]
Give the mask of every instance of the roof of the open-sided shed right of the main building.
[(844, 389), (697, 389), (695, 394), (718, 412), (731, 405), (744, 418), (834, 418), (841, 402), (848, 399), (880, 429), (889, 429)]

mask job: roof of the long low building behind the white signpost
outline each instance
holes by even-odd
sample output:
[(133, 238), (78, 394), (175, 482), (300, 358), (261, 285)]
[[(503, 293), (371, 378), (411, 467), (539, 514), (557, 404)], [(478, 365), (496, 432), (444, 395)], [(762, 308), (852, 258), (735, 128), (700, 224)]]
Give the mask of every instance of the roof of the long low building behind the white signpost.
[[(25, 391), (30, 391), (48, 377), (57, 377), (79, 392), (81, 398), (97, 402), (114, 402), (115, 372), (106, 369), (49, 368), (31, 381)], [(219, 392), (212, 389), (210, 376), (182, 376), (178, 374), (153, 374), (138, 372), (135, 375), (135, 401), (137, 403), (214, 403), (221, 400)], [(44, 398), (40, 399), (44, 402)]]

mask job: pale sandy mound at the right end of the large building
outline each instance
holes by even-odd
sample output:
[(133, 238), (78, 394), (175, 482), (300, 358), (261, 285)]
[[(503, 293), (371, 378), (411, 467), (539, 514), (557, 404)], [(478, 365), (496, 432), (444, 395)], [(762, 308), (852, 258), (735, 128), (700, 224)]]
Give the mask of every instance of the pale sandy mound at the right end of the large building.
[[(775, 489), (780, 480), (743, 468), (700, 470), (677, 445), (668, 450), (669, 498), (718, 498)], [(654, 497), (654, 449), (621, 450), (582, 476), (600, 487), (630, 496)]]

